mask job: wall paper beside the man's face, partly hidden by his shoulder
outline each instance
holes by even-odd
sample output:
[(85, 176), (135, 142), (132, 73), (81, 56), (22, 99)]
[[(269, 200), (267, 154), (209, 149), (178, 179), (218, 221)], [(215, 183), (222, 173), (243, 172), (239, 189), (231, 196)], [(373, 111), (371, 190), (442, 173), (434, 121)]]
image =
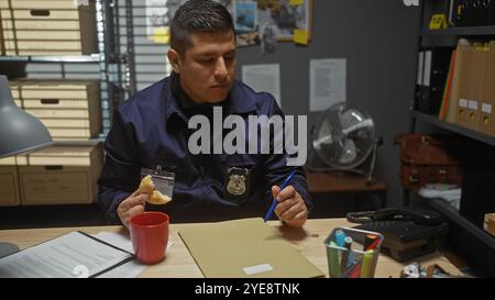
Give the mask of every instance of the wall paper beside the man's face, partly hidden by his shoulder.
[(282, 107), (280, 100), (280, 65), (244, 65), (242, 66), (242, 81), (256, 92), (265, 91)]

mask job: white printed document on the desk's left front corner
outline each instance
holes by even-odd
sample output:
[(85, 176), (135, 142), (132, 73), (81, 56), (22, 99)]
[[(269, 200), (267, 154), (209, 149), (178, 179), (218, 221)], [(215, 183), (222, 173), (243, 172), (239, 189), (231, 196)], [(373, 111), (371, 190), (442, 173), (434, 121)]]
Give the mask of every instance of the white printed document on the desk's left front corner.
[(0, 259), (0, 277), (89, 277), (129, 259), (131, 254), (70, 232)]

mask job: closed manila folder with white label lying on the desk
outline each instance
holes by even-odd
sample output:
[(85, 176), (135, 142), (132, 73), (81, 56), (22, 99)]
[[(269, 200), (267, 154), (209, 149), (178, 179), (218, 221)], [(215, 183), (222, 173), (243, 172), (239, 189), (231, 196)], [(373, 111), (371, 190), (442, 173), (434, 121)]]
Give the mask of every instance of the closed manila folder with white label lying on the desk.
[(261, 218), (195, 224), (179, 235), (207, 278), (324, 276)]

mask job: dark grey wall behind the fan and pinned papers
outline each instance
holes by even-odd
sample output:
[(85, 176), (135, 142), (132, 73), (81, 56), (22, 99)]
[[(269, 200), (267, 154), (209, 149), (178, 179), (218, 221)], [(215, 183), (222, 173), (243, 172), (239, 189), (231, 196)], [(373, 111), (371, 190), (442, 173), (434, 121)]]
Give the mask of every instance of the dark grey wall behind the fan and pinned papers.
[(309, 59), (346, 58), (348, 102), (365, 108), (385, 140), (377, 175), (389, 187), (388, 204), (398, 204), (402, 197), (393, 142), (408, 130), (419, 10), (402, 0), (315, 0), (308, 47), (280, 43), (275, 54), (262, 54), (260, 47), (239, 49), (239, 78), (244, 64), (280, 64), (282, 108), (286, 114), (308, 114), (308, 131), (321, 115), (309, 112)]

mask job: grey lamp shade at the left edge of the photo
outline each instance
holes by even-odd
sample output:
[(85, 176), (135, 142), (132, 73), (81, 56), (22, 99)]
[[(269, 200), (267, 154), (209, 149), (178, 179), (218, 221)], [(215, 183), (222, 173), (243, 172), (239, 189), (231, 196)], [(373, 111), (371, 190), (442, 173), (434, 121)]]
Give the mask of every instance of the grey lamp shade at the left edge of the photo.
[(0, 158), (51, 145), (53, 140), (48, 130), (15, 105), (9, 80), (0, 75)]

